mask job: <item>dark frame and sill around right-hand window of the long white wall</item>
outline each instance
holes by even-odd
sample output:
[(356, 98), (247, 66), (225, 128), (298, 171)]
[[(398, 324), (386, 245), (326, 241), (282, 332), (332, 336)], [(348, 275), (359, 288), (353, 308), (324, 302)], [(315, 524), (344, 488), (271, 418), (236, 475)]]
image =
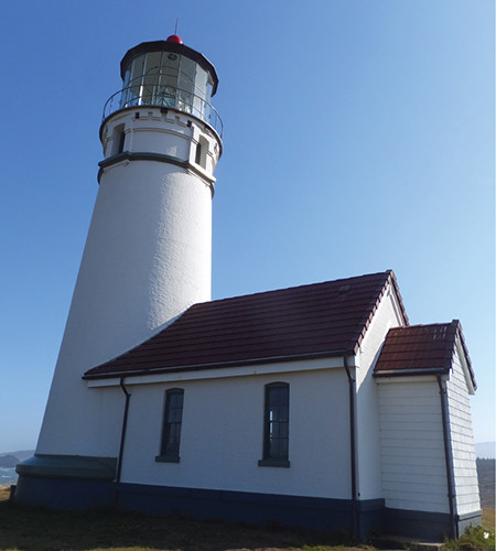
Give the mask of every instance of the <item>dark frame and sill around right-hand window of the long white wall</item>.
[[(272, 391), (285, 390), (285, 403), (274, 403)], [(285, 415), (281, 417), (280, 412), (278, 417), (274, 419), (271, 415), (271, 411), (274, 411), (276, 408), (285, 409)], [(273, 425), (278, 423), (277, 432), (278, 436), (272, 436)], [(265, 386), (263, 393), (263, 455), (262, 458), (258, 462), (258, 465), (261, 467), (289, 467), (291, 465), (289, 461), (289, 423), (290, 423), (290, 386), (288, 382), (270, 382)], [(285, 435), (280, 435), (281, 424), (285, 424)], [(284, 441), (283, 447), (285, 447), (285, 453), (281, 453), (280, 451), (273, 452), (271, 450), (271, 442), (273, 440)], [(279, 445), (278, 445), (279, 447)]]

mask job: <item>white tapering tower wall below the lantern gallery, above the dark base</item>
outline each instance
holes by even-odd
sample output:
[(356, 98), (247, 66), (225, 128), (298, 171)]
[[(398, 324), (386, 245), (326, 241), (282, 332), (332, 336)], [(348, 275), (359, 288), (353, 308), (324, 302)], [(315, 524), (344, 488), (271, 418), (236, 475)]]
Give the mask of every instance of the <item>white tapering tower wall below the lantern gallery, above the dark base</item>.
[[(122, 407), (103, 417), (83, 374), (211, 299), (216, 133), (195, 117), (142, 107), (109, 117), (101, 140), (100, 186), (37, 454), (116, 456)], [(114, 439), (99, 437), (108, 434), (101, 424), (116, 425)]]

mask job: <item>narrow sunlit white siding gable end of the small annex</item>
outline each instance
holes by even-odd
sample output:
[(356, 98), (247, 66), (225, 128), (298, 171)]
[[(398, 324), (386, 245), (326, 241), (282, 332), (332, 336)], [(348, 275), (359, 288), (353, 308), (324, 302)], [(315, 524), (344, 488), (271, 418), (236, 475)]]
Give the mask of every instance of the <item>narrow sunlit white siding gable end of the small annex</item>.
[(459, 354), (446, 382), (453, 453), (456, 512), (481, 509), (470, 395)]

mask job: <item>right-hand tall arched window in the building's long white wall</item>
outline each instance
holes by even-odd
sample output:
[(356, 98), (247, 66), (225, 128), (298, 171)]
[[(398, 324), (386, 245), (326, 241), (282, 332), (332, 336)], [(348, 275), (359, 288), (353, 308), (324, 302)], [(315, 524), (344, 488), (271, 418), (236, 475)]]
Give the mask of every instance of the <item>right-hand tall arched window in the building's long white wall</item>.
[(289, 385), (266, 386), (263, 415), (263, 467), (289, 467)]

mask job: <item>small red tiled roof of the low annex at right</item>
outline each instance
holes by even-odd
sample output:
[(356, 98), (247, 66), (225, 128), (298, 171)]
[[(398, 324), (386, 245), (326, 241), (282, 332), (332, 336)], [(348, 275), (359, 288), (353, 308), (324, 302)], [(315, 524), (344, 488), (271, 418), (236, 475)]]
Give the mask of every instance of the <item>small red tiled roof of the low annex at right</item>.
[(457, 320), (451, 323), (390, 328), (377, 359), (376, 376), (422, 375), (451, 369), (456, 339), (461, 339), (472, 382), (476, 388), (471, 358)]

